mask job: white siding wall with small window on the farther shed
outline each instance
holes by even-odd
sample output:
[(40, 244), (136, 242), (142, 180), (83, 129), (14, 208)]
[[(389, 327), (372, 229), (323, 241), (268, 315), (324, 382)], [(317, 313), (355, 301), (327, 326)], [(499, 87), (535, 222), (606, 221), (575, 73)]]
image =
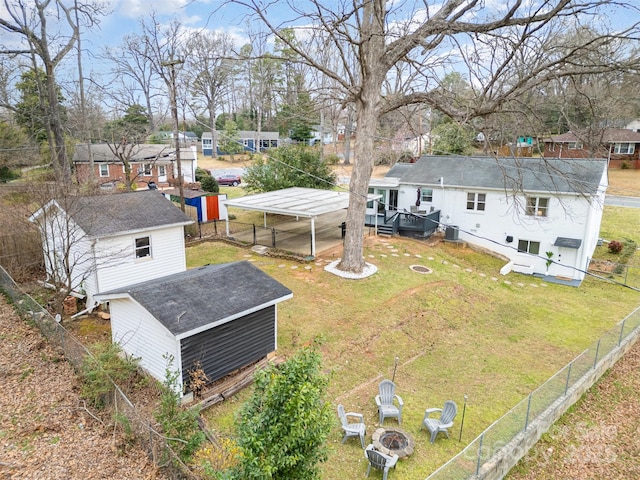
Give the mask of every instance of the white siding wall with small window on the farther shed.
[[(136, 260), (135, 239), (147, 235), (151, 238), (151, 258)], [(97, 288), (100, 292), (184, 272), (187, 269), (181, 226), (101, 239), (96, 248), (100, 248), (101, 251), (120, 252), (117, 261), (99, 268)]]

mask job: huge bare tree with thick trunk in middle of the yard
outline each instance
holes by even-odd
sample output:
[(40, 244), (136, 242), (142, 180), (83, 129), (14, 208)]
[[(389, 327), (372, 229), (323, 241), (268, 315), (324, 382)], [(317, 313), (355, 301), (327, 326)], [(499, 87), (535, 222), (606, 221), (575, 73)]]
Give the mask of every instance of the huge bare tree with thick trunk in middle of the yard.
[[(235, 3), (248, 8), (303, 62), (340, 83), (348, 92), (345, 100), (356, 106), (356, 162), (350, 183), (344, 252), (338, 267), (347, 272), (359, 273), (365, 266), (363, 218), (381, 115), (423, 103), (466, 123), (499, 111), (508, 100), (552, 78), (637, 65), (635, 55), (624, 62), (608, 63), (583, 55), (606, 47), (629, 52), (624, 42), (637, 38), (638, 7), (616, 0), (511, 0), (495, 9), (485, 7), (480, 0), (445, 0), (437, 9), (427, 2), (371, 0), (332, 4), (329, 8), (319, 0), (289, 1), (295, 19), (284, 24), (273, 23), (267, 6), (257, 0)], [(603, 24), (598, 35), (587, 43), (575, 38), (566, 39), (565, 48), (554, 43), (563, 29), (599, 15), (604, 8), (625, 11), (625, 18), (632, 24), (616, 30), (606, 29)], [(326, 39), (330, 48), (339, 52), (345, 68), (339, 72), (327, 68), (314, 56), (315, 52), (299, 48), (280, 34), (301, 18), (305, 31)], [(357, 68), (350, 70), (352, 59)], [(402, 64), (407, 65), (405, 71), (410, 74), (396, 84), (395, 91), (385, 91), (389, 77)], [(447, 70), (456, 68), (466, 68), (474, 86), (472, 101), (466, 104), (436, 88)]]

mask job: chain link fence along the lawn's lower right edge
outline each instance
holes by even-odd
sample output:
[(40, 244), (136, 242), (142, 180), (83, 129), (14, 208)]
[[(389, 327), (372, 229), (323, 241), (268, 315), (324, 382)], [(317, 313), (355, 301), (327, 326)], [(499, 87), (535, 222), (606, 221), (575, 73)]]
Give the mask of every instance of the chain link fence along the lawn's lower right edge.
[(500, 479), (640, 335), (640, 308), (490, 425), (427, 480)]

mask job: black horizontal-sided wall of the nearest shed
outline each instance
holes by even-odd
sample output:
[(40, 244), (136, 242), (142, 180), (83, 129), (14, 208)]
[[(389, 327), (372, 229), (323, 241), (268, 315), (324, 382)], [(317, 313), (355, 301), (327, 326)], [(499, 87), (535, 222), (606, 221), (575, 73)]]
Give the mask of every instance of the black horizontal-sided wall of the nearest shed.
[(275, 309), (274, 305), (182, 339), (183, 384), (188, 388), (189, 370), (196, 362), (200, 362), (209, 381), (214, 382), (273, 352)]

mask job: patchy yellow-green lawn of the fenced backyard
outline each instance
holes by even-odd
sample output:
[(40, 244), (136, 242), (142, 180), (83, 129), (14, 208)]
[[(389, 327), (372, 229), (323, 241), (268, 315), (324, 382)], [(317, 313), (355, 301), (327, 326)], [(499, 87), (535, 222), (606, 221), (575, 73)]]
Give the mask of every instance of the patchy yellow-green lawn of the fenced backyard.
[[(603, 231), (637, 235), (640, 216), (622, 210), (607, 207)], [(416, 450), (391, 474), (395, 480), (425, 478), (640, 303), (638, 292), (592, 278), (571, 288), (519, 274), (502, 277), (501, 261), (468, 248), (401, 238), (369, 238), (365, 245), (365, 258), (378, 272), (358, 281), (325, 272), (322, 256), (305, 265), (224, 243), (189, 247), (187, 262), (251, 260), (289, 287), (294, 297), (278, 310), (278, 355), (321, 337), (329, 399), (364, 413), (368, 438), (376, 428), (378, 382), (391, 378), (399, 357), (402, 426)], [(415, 273), (414, 264), (433, 273)], [(232, 433), (233, 412), (248, 393), (204, 412), (210, 426)], [(461, 407), (465, 394), (463, 441), (459, 415), (451, 440), (429, 444), (419, 430), (424, 409), (447, 399)], [(359, 442), (342, 445), (341, 439), (336, 415), (323, 478), (364, 477)]]

